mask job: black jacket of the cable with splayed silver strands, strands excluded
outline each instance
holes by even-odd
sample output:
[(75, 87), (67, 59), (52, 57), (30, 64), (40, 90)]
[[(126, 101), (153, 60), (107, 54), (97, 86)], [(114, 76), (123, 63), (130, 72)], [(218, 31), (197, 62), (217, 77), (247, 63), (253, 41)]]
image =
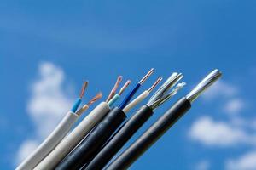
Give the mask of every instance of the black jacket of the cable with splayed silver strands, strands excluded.
[(148, 105), (143, 105), (125, 125), (116, 133), (104, 148), (84, 167), (86, 170), (100, 170), (108, 164), (108, 161), (131, 139), (132, 135), (148, 121), (153, 111)]

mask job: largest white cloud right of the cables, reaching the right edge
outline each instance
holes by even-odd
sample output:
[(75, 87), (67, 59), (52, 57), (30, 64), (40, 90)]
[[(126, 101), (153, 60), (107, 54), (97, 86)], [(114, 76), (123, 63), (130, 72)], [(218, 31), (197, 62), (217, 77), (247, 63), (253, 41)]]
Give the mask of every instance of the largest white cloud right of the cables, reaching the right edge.
[(210, 116), (203, 116), (193, 123), (189, 136), (208, 146), (233, 146), (236, 144), (256, 144), (256, 135), (233, 127), (226, 122), (215, 122)]

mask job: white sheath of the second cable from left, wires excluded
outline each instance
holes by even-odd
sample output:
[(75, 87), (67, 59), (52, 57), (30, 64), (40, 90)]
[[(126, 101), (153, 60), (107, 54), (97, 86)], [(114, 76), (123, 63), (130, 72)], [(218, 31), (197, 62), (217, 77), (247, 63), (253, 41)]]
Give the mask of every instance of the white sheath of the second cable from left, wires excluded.
[(103, 116), (105, 116), (108, 111), (110, 111), (110, 108), (106, 102), (97, 105), (96, 108), (55, 147), (55, 150), (52, 150), (49, 155), (34, 168), (34, 170), (54, 169), (54, 167), (79, 144), (81, 139), (83, 139), (86, 134), (90, 133), (90, 130), (95, 127), (97, 122), (102, 120)]

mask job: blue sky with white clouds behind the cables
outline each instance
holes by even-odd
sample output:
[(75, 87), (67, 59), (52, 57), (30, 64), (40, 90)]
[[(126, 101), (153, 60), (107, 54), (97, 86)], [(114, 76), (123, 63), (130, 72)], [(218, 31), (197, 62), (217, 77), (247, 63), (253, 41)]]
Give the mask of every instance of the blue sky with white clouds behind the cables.
[(187, 86), (130, 143), (209, 71), (224, 76), (131, 169), (256, 169), (255, 7), (231, 0), (1, 1), (1, 169), (13, 169), (44, 139), (84, 79), (84, 101), (99, 90), (106, 98), (118, 75), (134, 85), (151, 67), (142, 91), (172, 71)]

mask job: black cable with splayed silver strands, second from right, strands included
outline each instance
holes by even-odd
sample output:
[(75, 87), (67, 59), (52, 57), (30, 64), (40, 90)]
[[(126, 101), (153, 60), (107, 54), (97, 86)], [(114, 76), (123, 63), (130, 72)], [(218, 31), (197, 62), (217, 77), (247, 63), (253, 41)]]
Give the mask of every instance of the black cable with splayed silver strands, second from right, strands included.
[[(165, 88), (165, 90), (162, 90), (160, 94), (166, 94), (167, 91), (170, 88), (172, 88), (172, 86), (174, 86), (177, 83), (177, 81), (180, 80), (182, 75), (179, 74), (177, 75), (177, 77), (179, 78), (175, 78), (172, 80), (168, 78), (167, 81), (159, 88), (159, 89)], [(172, 90), (172, 92), (168, 94), (168, 97), (170, 98), (172, 95), (176, 94), (177, 90), (180, 88), (182, 87), (175, 88), (174, 90)], [(155, 94), (159, 95), (159, 93), (155, 93)], [(159, 98), (154, 98), (154, 100), (156, 101), (158, 101), (158, 99)], [(148, 106), (151, 101), (153, 100), (149, 99), (147, 105), (143, 105), (133, 116), (131, 116), (131, 118), (127, 122), (125, 122), (124, 126), (121, 127), (119, 131), (113, 135), (113, 138), (110, 139), (107, 144), (105, 144), (102, 150), (91, 161), (89, 161), (87, 165), (84, 165), (83, 169), (86, 169), (86, 170), (99, 169), (100, 170), (103, 167), (105, 167), (108, 164), (108, 161), (110, 161), (113, 158), (113, 156), (115, 156), (115, 154), (125, 145), (125, 143), (129, 139), (131, 139), (133, 134), (136, 133), (137, 130), (140, 127), (142, 127), (145, 122), (148, 121), (150, 116), (153, 115), (154, 109), (159, 105)]]

